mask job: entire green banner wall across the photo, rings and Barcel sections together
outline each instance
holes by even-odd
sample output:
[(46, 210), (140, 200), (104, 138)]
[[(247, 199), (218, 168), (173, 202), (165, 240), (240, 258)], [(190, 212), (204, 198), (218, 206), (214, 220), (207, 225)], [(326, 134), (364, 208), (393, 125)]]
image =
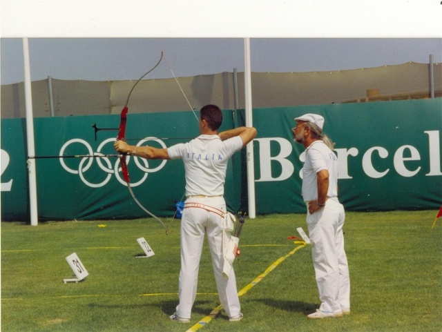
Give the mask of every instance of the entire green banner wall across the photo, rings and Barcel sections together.
[[(262, 108), (253, 110), (256, 211), (305, 213), (300, 186), (304, 148), (293, 141), (294, 117), (325, 117), (324, 132), (336, 142), (339, 195), (347, 211), (437, 209), (442, 203), (442, 99)], [(36, 118), (37, 156), (114, 154), (118, 115)], [(221, 130), (242, 126), (244, 110), (224, 110)], [(171, 146), (198, 136), (192, 113), (128, 115), (130, 144)], [(1, 121), (1, 218), (28, 220), (26, 122)], [(227, 170), (229, 210), (247, 208), (245, 149)], [(37, 159), (40, 220), (146, 217), (128, 193), (119, 159)], [(160, 216), (172, 216), (184, 195), (180, 161), (130, 157), (131, 186), (140, 202)]]

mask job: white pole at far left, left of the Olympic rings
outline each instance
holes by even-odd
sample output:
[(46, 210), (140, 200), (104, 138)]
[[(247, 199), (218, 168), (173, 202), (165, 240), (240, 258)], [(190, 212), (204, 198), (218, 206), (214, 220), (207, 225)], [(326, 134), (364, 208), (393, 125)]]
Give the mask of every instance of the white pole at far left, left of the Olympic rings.
[[(28, 155), (35, 155), (34, 141), (34, 118), (32, 114), (32, 89), (30, 85), (30, 60), (28, 38), (23, 38), (23, 58), (25, 69), (25, 101), (26, 101), (26, 137), (28, 143)], [(30, 201), (30, 224), (39, 224), (37, 213), (37, 177), (35, 159), (28, 159), (29, 201)]]

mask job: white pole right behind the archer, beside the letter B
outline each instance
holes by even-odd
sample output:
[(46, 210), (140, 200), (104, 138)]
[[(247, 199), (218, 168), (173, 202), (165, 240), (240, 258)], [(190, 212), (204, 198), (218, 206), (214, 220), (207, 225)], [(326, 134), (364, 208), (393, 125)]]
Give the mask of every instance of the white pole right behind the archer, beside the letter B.
[[(245, 112), (246, 126), (253, 126), (252, 106), (251, 106), (251, 66), (250, 66), (250, 39), (244, 38), (244, 92), (245, 92)], [(255, 168), (253, 165), (253, 141), (246, 146), (247, 151), (247, 190), (249, 193), (249, 218), (256, 217), (255, 202)]]

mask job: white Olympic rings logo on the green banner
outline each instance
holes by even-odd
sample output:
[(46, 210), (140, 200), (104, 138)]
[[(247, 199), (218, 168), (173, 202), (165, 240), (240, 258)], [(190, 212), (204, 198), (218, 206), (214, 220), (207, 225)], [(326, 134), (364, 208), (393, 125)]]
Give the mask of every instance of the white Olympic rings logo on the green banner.
[[(141, 141), (139, 141), (137, 143), (137, 146), (142, 146), (142, 144), (146, 143), (146, 141), (156, 141), (158, 144), (160, 144), (160, 146), (162, 146), (162, 148), (166, 148), (166, 144), (164, 144), (164, 142), (161, 139), (158, 139), (156, 137), (146, 137), (146, 138), (142, 139)], [(109, 143), (113, 145), (114, 142), (115, 142), (115, 138), (106, 139), (106, 140), (102, 141), (101, 144), (99, 144), (97, 151), (94, 152), (93, 148), (90, 146), (90, 144), (87, 141), (85, 141), (84, 139), (74, 138), (74, 139), (70, 139), (69, 141), (66, 141), (66, 143), (63, 144), (63, 146), (61, 146), (59, 155), (63, 156), (64, 151), (71, 144), (82, 144), (86, 147), (88, 155), (104, 156), (104, 155), (106, 155), (106, 154), (102, 153), (104, 146), (106, 146), (106, 144), (109, 144)], [(127, 185), (126, 181), (124, 181), (124, 179), (120, 175), (120, 172), (122, 169), (120, 166), (120, 159), (119, 158), (115, 158), (115, 159), (116, 159), (115, 163), (112, 164), (109, 157), (97, 157), (97, 158), (83, 157), (83, 158), (81, 158), (81, 162), (79, 162), (78, 169), (73, 169), (73, 168), (70, 168), (68, 165), (66, 165), (64, 158), (60, 158), (60, 164), (69, 173), (78, 174), (81, 181), (84, 182), (84, 184), (86, 184), (86, 186), (90, 186), (91, 188), (100, 188), (102, 186), (106, 186), (106, 184), (111, 180), (112, 175), (115, 175), (115, 177), (117, 177), (117, 180), (119, 183), (126, 186)], [(144, 171), (144, 175), (142, 176), (140, 181), (137, 181), (134, 183), (131, 182), (132, 187), (140, 186), (140, 184), (142, 184), (144, 181), (146, 181), (146, 178), (149, 173), (155, 173), (155, 172), (161, 170), (167, 162), (166, 160), (162, 160), (162, 162), (160, 163), (159, 166), (157, 166), (155, 168), (149, 168), (149, 164), (148, 164), (147, 159), (140, 158), (140, 157), (132, 157), (131, 158), (131, 156), (127, 155), (126, 156), (126, 163), (129, 164), (131, 162), (131, 159), (133, 159), (135, 161), (135, 164), (137, 165), (138, 168), (140, 168), (140, 170)], [(90, 167), (93, 165), (94, 161), (97, 162), (99, 168), (101, 170), (103, 170), (104, 173), (107, 173), (106, 178), (102, 182), (99, 182), (99, 183), (90, 182), (85, 177), (85, 173), (90, 169)]]

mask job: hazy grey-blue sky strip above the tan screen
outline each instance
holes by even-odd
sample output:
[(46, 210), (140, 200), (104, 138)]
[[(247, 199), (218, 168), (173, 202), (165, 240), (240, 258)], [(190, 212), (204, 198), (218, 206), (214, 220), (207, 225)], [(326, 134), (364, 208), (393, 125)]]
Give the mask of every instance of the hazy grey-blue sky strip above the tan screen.
[[(442, 39), (251, 39), (252, 72), (312, 72), (374, 68), (409, 61), (442, 62)], [(244, 70), (240, 38), (29, 39), (32, 81), (138, 79), (164, 52), (166, 63), (146, 79)], [(1, 39), (1, 84), (24, 79), (21, 39)]]

